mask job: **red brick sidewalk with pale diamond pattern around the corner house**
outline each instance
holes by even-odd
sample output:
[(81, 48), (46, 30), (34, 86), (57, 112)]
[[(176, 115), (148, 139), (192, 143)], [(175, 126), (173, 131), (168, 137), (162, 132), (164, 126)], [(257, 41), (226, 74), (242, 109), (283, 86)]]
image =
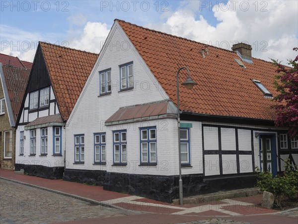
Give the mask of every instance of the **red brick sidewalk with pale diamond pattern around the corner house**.
[[(114, 220), (112, 218), (101, 218), (101, 220), (84, 220), (83, 223), (179, 223), (206, 220), (208, 217), (209, 219), (225, 217), (224, 219), (237, 222), (249, 220), (248, 222), (250, 223), (298, 223), (298, 219), (273, 215), (277, 212), (275, 210), (257, 207), (256, 205), (260, 204), (262, 200), (262, 195), (179, 206), (143, 197), (105, 191), (103, 187), (99, 186), (88, 186), (63, 180), (49, 180), (34, 176), (20, 175), (10, 170), (1, 169), (0, 178), (22, 182), (22, 184), (95, 204), (144, 212), (144, 214), (141, 215), (119, 217), (119, 220), (117, 220), (117, 217), (114, 217)], [(148, 217), (151, 218), (149, 219)], [(109, 221), (107, 219), (109, 219)], [(261, 220), (263, 220), (263, 222), (260, 222)]]

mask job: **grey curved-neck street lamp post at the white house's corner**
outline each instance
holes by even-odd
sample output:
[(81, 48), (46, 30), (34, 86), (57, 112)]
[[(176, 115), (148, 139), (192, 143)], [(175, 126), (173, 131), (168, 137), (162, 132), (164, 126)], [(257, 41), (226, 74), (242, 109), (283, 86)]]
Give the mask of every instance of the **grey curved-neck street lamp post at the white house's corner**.
[(181, 145), (180, 145), (180, 109), (179, 109), (179, 72), (186, 69), (188, 78), (182, 83), (186, 89), (192, 89), (197, 83), (190, 78), (189, 70), (187, 67), (181, 67), (177, 71), (177, 121), (178, 121), (178, 148), (179, 148), (179, 205), (183, 205), (183, 184), (181, 177)]

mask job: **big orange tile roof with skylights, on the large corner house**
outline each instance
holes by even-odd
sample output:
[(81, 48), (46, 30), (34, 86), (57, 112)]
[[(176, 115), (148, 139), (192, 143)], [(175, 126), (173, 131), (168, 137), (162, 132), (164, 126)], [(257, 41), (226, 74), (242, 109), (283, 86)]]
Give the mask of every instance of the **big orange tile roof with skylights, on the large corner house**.
[[(276, 68), (272, 63), (252, 58), (254, 64), (241, 68), (234, 60), (233, 51), (208, 46), (209, 55), (201, 55), (207, 45), (182, 37), (158, 32), (116, 19), (148, 65), (155, 78), (176, 104), (176, 74), (187, 66), (198, 83), (192, 90), (179, 86), (180, 110), (248, 118), (274, 119), (275, 103), (265, 98), (251, 81), (256, 79), (274, 95)], [(179, 76), (181, 84), (187, 77), (185, 70)]]

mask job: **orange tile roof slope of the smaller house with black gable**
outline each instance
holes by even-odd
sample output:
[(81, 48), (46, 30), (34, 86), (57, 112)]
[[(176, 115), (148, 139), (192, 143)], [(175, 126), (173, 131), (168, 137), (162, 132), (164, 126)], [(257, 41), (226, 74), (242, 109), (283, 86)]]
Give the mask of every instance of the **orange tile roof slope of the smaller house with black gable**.
[(39, 42), (63, 119), (68, 119), (98, 54)]

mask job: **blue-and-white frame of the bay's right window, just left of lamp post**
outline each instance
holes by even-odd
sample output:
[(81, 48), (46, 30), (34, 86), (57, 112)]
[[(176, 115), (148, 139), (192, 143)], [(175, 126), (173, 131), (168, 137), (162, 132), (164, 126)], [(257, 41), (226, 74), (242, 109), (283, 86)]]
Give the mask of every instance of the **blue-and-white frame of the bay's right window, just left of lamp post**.
[[(156, 126), (140, 127), (140, 165), (157, 165), (157, 129)], [(147, 138), (143, 138), (143, 132), (147, 131)], [(150, 130), (155, 130), (155, 138), (150, 137)], [(147, 161), (143, 161), (142, 144), (147, 144)], [(155, 143), (155, 161), (151, 160), (150, 143)]]

